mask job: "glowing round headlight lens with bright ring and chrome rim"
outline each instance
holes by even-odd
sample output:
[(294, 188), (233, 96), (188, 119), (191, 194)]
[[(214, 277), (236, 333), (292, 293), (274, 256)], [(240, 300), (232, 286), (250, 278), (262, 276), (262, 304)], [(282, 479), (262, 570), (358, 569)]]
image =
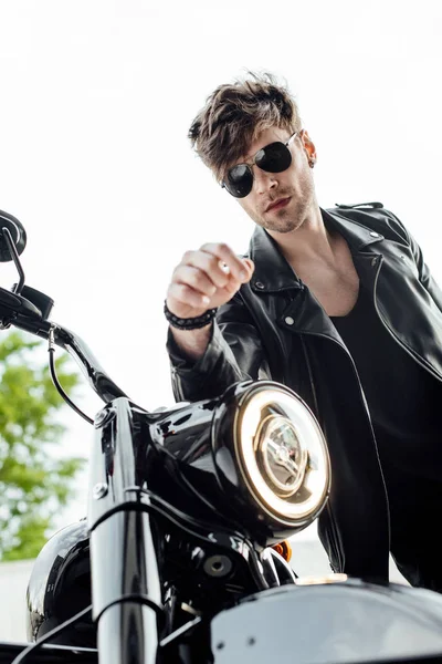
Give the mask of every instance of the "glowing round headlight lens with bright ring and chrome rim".
[(281, 523), (308, 525), (324, 507), (330, 484), (316, 418), (295, 393), (275, 383), (255, 383), (239, 405), (234, 446), (249, 491)]

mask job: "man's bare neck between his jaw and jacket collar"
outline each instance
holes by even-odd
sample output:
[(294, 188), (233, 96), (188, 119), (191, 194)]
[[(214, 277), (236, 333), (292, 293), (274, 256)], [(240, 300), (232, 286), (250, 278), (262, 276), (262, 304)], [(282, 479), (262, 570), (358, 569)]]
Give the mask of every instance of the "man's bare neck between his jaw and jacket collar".
[(334, 258), (332, 235), (324, 225), (317, 204), (307, 211), (294, 230), (290, 232), (269, 230), (267, 232), (292, 266), (318, 259), (328, 262)]

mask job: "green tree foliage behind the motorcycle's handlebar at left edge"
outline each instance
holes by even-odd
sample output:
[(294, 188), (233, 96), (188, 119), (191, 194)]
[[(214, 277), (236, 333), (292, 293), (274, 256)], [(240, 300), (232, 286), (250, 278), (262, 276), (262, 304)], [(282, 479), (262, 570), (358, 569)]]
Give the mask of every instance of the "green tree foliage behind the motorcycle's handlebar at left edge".
[[(84, 464), (55, 454), (65, 430), (57, 422), (64, 402), (41, 344), (19, 332), (0, 336), (0, 560), (38, 554)], [(66, 354), (56, 359), (60, 382), (71, 393), (78, 374), (69, 364)]]

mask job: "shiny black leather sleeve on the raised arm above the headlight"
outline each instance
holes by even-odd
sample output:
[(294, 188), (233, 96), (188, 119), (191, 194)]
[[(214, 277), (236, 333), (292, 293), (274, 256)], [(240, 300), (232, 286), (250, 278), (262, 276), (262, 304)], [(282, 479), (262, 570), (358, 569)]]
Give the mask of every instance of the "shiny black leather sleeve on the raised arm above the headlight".
[(269, 377), (257, 330), (238, 297), (219, 309), (209, 345), (197, 362), (181, 352), (170, 330), (167, 352), (177, 401), (211, 398), (233, 383)]

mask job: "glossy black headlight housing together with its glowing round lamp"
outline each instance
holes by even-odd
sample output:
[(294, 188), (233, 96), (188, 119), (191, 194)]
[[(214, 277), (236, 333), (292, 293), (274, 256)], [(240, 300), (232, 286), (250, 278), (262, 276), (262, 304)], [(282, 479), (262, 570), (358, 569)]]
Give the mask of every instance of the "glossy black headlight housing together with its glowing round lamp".
[(155, 415), (149, 436), (157, 454), (162, 446), (167, 453), (146, 477), (159, 496), (260, 546), (303, 530), (327, 501), (330, 468), (320, 427), (280, 383), (236, 383), (221, 396)]

